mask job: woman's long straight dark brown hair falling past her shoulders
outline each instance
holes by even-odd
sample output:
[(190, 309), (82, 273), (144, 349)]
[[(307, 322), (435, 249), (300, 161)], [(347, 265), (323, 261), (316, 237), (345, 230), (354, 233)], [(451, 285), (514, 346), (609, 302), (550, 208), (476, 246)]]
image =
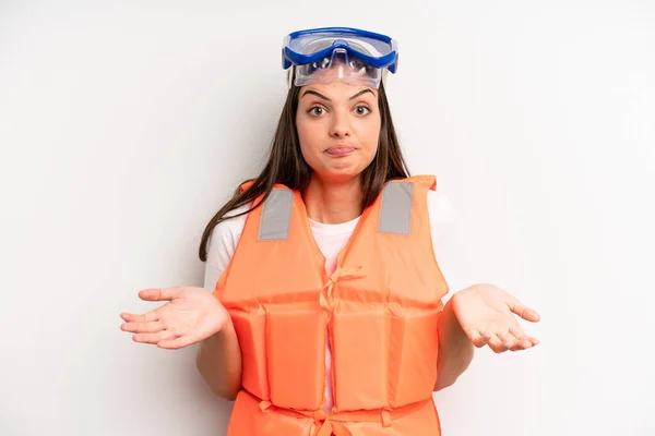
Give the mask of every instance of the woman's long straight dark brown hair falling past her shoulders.
[[(207, 258), (210, 234), (221, 221), (248, 214), (259, 207), (266, 199), (274, 184), (284, 184), (291, 190), (298, 191), (303, 191), (309, 184), (311, 168), (302, 158), (298, 142), (298, 132), (296, 130), (296, 110), (298, 109), (299, 94), (300, 87), (291, 85), (282, 109), (279, 121), (277, 122), (266, 166), (262, 172), (255, 179), (246, 181), (252, 182), (252, 184), (243, 192), (240, 192), (240, 187), (237, 187), (233, 197), (214, 215), (205, 227), (199, 249), (199, 256), (202, 262), (205, 262)], [(361, 172), (364, 192), (361, 203), (365, 208), (378, 198), (385, 182), (409, 177), (409, 171), (407, 170), (407, 165), (393, 126), (391, 110), (389, 109), (389, 101), (386, 100), (382, 83), (380, 83), (380, 88), (378, 89), (378, 106), (382, 121), (378, 153), (371, 164)], [(229, 217), (225, 216), (230, 210), (254, 202), (262, 194), (264, 195), (262, 202), (253, 204), (249, 210), (230, 215)]]

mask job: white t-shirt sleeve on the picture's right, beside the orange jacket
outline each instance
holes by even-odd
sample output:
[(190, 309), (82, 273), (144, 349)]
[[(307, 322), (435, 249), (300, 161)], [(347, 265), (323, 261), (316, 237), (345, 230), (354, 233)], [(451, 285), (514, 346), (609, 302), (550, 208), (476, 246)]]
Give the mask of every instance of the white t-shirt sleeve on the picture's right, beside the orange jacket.
[(428, 213), (434, 257), (446, 282), (454, 281), (456, 214), (449, 198), (439, 191), (428, 191)]

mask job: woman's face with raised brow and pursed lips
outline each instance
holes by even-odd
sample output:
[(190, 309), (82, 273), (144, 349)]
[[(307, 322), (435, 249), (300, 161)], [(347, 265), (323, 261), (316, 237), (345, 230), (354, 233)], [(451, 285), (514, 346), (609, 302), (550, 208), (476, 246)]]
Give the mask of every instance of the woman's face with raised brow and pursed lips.
[(378, 90), (335, 80), (300, 88), (296, 126), (313, 175), (325, 182), (358, 177), (376, 157), (380, 136)]

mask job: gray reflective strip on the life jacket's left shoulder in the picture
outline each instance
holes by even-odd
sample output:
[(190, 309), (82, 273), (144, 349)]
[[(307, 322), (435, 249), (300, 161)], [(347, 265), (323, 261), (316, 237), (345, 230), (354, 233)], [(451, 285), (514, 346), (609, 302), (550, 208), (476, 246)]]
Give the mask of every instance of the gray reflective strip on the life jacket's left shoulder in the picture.
[(262, 205), (262, 216), (258, 233), (259, 241), (286, 240), (289, 237), (294, 193), (274, 189)]

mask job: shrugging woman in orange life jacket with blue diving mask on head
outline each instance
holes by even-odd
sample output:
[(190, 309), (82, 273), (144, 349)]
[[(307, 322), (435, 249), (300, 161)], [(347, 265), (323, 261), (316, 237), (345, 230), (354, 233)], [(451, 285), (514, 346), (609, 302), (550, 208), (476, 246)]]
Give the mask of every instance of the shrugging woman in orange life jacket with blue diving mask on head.
[(436, 180), (408, 177), (384, 94), (393, 39), (297, 32), (283, 62), (289, 93), (267, 165), (203, 234), (203, 261), (211, 235), (234, 238), (210, 249), (226, 266), (215, 286), (207, 269), (213, 292), (143, 290), (168, 303), (121, 314), (121, 328), (166, 349), (200, 343), (200, 373), (236, 400), (228, 435), (438, 435), (432, 391), (474, 347), (536, 346), (517, 317), (539, 315), (492, 284), (442, 303)]

